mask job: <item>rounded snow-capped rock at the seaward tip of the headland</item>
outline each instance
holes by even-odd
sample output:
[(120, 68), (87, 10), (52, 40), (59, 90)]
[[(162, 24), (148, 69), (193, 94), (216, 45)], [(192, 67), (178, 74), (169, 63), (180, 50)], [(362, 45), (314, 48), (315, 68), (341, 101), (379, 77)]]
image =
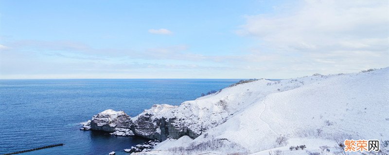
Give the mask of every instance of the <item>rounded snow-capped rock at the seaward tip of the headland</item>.
[(108, 109), (93, 116), (90, 128), (92, 130), (115, 132), (121, 128), (130, 128), (131, 124), (130, 116), (124, 113), (124, 111)]

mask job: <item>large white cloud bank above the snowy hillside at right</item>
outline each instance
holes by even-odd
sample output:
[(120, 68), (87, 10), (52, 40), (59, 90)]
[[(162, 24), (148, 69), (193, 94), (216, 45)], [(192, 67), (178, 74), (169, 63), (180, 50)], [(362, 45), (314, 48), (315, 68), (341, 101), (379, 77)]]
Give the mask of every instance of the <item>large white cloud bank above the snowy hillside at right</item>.
[(279, 64), (269, 66), (332, 73), (389, 65), (387, 0), (305, 0), (291, 6), (246, 16), (237, 31), (279, 55)]

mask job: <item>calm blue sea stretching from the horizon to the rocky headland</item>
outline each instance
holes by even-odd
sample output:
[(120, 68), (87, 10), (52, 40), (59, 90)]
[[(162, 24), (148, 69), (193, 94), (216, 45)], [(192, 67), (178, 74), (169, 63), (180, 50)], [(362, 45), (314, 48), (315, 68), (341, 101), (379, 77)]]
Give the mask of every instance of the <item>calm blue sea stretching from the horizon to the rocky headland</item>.
[(237, 79), (39, 79), (0, 80), (0, 154), (45, 145), (64, 146), (22, 155), (126, 155), (144, 142), (104, 132), (82, 131), (80, 123), (106, 109), (134, 117), (154, 104), (179, 105)]

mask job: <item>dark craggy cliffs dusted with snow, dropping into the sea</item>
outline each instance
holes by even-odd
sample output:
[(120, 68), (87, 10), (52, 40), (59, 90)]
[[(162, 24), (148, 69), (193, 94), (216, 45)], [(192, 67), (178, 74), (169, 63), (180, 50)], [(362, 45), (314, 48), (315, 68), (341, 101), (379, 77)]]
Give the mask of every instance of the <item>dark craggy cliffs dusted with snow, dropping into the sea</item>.
[(168, 138), (178, 139), (185, 135), (198, 137), (201, 132), (195, 133), (188, 127), (194, 124), (182, 123), (183, 119), (166, 114), (174, 113), (175, 109), (177, 106), (154, 105), (134, 118), (130, 118), (123, 111), (108, 109), (93, 116), (90, 124), (84, 124), (84, 128), (106, 131), (117, 136), (136, 135), (160, 141)]

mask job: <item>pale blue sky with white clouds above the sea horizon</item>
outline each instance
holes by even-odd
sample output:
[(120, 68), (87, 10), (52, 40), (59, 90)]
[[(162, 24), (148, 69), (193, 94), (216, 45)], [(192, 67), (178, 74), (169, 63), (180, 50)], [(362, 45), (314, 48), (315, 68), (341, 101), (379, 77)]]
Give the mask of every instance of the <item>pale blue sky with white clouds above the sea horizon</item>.
[(296, 78), (389, 66), (388, 0), (0, 0), (0, 78)]

